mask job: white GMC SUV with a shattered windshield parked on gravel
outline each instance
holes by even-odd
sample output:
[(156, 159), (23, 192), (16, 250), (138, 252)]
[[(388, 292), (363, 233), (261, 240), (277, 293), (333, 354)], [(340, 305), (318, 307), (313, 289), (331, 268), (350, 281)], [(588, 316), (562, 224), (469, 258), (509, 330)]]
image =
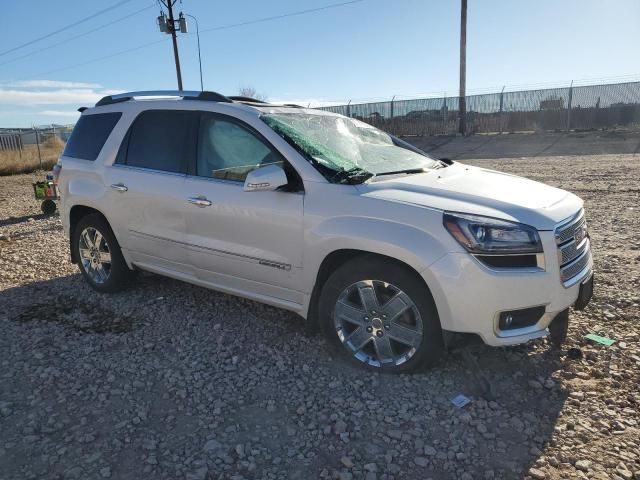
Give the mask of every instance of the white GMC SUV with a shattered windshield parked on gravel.
[(394, 372), (455, 332), (561, 340), (591, 298), (566, 191), (295, 105), (161, 91), (81, 111), (56, 170), (72, 260), (100, 292), (140, 269), (251, 298)]

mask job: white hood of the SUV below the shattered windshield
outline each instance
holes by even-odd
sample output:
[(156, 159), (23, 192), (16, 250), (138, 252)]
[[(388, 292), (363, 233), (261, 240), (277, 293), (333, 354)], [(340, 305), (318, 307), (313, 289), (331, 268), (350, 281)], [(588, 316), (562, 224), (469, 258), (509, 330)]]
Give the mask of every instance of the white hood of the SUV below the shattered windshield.
[(367, 197), (502, 218), (538, 230), (553, 230), (582, 208), (582, 200), (565, 190), (457, 162), (423, 174), (384, 178), (358, 185), (358, 190)]

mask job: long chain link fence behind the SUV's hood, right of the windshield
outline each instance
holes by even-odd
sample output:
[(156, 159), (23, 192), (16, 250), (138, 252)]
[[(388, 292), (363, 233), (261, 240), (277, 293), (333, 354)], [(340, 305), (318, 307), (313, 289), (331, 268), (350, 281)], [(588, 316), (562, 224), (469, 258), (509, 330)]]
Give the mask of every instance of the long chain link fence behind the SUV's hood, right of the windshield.
[[(468, 134), (640, 127), (640, 82), (503, 91), (466, 103)], [(402, 136), (454, 135), (458, 109), (459, 97), (322, 107)]]

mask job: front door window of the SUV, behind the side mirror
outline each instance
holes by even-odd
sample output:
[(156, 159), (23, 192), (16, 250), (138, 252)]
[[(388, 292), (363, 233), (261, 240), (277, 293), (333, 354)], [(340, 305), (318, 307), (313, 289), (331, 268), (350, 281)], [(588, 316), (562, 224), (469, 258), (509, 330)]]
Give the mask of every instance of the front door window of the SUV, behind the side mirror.
[(198, 136), (199, 177), (244, 182), (258, 167), (277, 164), (281, 156), (251, 130), (216, 115), (203, 115)]

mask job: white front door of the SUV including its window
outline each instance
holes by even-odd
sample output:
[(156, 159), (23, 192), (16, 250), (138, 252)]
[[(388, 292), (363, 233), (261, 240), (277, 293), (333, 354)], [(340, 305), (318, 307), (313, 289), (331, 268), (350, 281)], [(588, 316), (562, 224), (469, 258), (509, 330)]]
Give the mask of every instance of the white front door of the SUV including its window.
[(194, 175), (185, 180), (190, 263), (221, 290), (302, 303), (301, 191), (245, 192), (257, 166), (284, 160), (256, 131), (235, 119), (203, 113)]

